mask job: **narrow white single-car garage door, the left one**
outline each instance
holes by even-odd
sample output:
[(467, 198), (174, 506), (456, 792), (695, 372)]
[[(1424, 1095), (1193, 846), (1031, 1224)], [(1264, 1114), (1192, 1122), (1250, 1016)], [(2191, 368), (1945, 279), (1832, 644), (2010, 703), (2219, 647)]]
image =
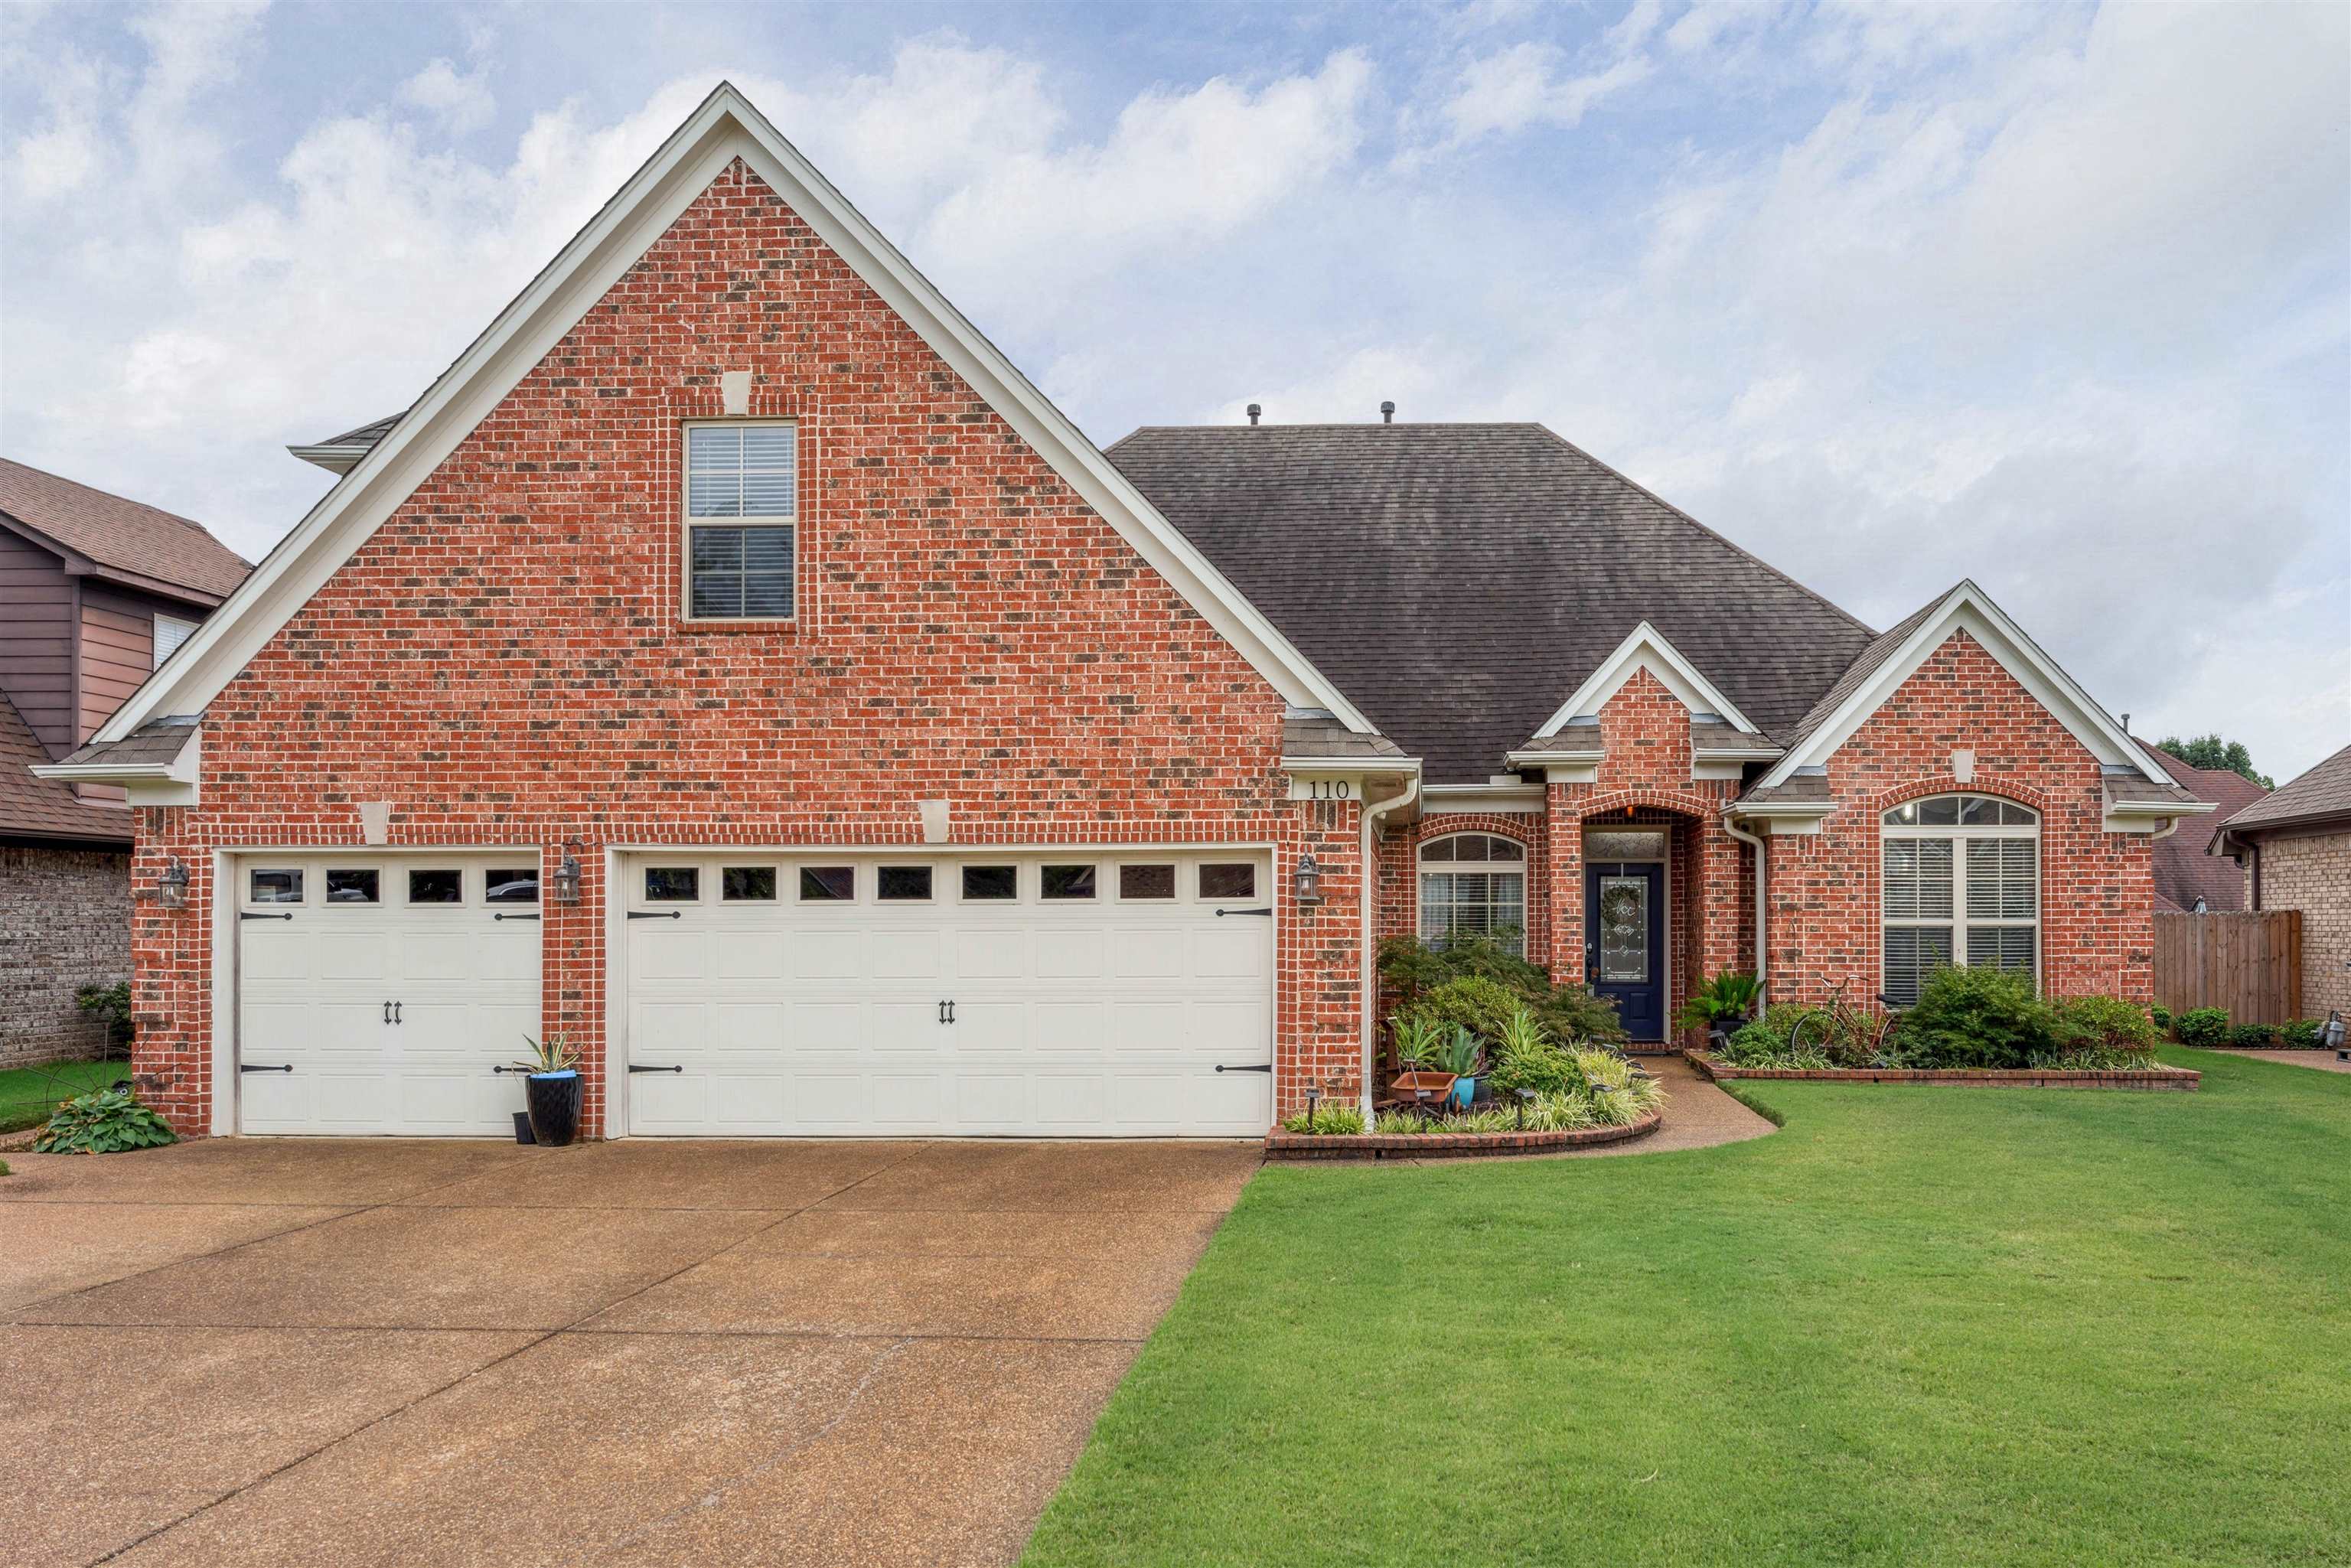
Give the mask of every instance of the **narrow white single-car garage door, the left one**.
[(237, 863), (237, 1131), (515, 1131), (538, 851)]

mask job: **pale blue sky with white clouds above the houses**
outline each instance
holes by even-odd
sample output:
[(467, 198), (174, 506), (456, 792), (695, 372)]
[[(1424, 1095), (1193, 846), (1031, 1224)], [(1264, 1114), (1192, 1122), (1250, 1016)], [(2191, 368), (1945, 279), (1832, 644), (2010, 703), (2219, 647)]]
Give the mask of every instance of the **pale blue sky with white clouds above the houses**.
[(2351, 741), (2351, 7), (0, 5), (0, 447), (259, 557), (734, 78), (1089, 435), (1538, 418)]

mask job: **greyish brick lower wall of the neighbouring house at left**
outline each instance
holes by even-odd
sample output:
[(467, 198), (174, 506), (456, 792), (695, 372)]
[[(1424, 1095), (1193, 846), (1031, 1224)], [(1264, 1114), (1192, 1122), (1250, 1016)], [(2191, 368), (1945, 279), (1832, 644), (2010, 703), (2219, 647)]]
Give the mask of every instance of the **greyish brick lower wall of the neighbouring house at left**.
[(0, 1067), (101, 1056), (106, 1027), (73, 1004), (132, 971), (132, 858), (0, 846)]

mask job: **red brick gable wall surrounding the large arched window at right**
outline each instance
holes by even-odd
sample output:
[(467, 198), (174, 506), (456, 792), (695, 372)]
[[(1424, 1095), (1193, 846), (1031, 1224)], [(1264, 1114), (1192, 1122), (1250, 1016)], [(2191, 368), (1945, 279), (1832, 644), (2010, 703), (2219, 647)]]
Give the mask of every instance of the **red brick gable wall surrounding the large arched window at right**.
[[(1951, 776), (1975, 752), (1972, 783)], [(1841, 802), (1817, 835), (1770, 839), (1770, 990), (1883, 990), (1881, 813), (1970, 790), (2041, 811), (2041, 983), (2052, 997), (2154, 994), (2154, 870), (2144, 835), (2104, 832), (2092, 757), (1991, 654), (1954, 632), (1831, 757)]]

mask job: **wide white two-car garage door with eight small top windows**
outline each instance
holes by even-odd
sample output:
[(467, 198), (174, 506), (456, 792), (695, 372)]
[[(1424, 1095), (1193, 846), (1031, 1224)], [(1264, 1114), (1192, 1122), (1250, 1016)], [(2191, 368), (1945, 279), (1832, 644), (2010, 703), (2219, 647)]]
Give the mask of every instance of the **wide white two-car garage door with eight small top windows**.
[(1258, 1135), (1262, 851), (635, 856), (628, 1126)]

